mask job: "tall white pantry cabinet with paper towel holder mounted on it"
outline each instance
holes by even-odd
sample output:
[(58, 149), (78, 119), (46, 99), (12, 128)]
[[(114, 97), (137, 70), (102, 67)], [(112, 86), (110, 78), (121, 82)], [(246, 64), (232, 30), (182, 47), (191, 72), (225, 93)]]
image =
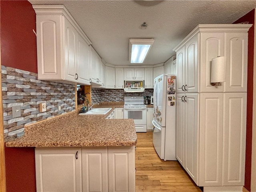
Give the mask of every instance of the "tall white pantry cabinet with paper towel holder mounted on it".
[[(198, 25), (174, 51), (176, 158), (205, 192), (244, 185), (248, 30), (251, 24)], [(226, 82), (210, 83), (211, 60), (226, 56)]]

